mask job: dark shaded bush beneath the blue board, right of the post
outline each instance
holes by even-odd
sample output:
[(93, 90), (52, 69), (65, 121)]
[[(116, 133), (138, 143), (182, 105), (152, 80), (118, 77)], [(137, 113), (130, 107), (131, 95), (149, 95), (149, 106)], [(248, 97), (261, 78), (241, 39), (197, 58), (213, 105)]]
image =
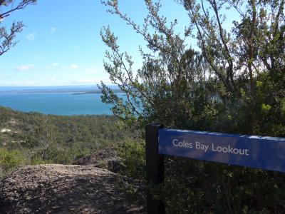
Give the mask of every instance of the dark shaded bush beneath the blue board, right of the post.
[(271, 171), (167, 157), (165, 186), (157, 195), (169, 213), (282, 213), (284, 178)]

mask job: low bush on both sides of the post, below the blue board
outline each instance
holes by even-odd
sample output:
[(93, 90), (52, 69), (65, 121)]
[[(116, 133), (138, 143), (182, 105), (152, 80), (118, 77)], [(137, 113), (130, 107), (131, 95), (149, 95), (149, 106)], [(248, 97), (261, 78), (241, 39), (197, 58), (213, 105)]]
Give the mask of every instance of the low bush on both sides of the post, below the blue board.
[[(118, 186), (146, 207), (145, 143), (128, 141), (118, 151), (124, 166)], [(167, 213), (283, 213), (284, 179), (272, 171), (165, 156), (164, 185), (147, 188)]]

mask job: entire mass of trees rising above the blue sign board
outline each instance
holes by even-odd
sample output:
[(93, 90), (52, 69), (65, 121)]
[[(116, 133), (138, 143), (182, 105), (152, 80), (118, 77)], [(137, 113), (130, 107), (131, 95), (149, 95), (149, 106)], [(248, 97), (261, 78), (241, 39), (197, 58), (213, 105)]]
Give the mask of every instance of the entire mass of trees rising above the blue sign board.
[[(150, 50), (140, 49), (143, 66), (134, 75), (131, 56), (120, 52), (110, 28), (101, 31), (110, 48), (105, 70), (127, 96), (124, 102), (102, 83), (103, 101), (113, 103), (113, 112), (129, 127), (160, 122), (176, 128), (284, 136), (284, 126), (276, 131), (263, 120), (268, 113), (284, 115), (284, 1), (177, 2), (190, 16), (183, 34), (175, 31), (177, 20), (167, 23), (160, 16), (159, 1), (145, 1), (149, 14), (142, 26), (119, 10), (118, 1), (103, 1)], [(240, 15), (232, 29), (223, 27), (227, 17), (222, 13), (227, 11)], [(186, 44), (191, 36), (199, 51)], [(280, 124), (284, 117), (277, 120)]]

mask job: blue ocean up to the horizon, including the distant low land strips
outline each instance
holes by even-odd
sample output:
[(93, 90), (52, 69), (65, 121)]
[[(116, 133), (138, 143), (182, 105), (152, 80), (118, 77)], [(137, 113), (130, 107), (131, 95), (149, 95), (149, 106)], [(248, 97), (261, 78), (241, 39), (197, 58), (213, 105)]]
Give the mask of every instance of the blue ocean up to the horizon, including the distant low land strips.
[[(102, 103), (100, 96), (94, 86), (0, 87), (0, 106), (62, 116), (112, 114), (112, 106)], [(123, 97), (123, 94), (119, 93), (119, 96)]]

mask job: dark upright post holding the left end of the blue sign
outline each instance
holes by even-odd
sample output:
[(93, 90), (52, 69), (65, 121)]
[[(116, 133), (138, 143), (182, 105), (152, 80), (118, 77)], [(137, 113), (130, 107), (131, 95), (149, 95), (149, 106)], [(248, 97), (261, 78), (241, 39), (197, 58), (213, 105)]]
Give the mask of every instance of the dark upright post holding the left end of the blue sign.
[[(159, 124), (145, 126), (145, 158), (147, 167), (147, 183), (159, 184), (164, 182), (164, 156), (158, 153)], [(147, 213), (165, 214), (165, 205), (155, 200), (147, 191)]]

